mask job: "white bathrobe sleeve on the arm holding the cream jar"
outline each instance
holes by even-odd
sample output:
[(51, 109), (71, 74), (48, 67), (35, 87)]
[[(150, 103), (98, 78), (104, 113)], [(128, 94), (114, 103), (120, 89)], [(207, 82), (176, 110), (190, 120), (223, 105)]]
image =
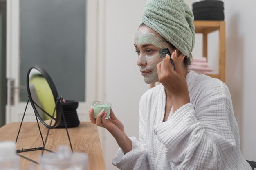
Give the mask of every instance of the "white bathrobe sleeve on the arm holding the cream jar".
[(149, 170), (147, 162), (147, 124), (144, 118), (146, 100), (141, 97), (139, 102), (139, 140), (136, 137), (129, 137), (132, 141), (132, 150), (124, 155), (124, 151), (119, 148), (112, 164), (121, 170)]

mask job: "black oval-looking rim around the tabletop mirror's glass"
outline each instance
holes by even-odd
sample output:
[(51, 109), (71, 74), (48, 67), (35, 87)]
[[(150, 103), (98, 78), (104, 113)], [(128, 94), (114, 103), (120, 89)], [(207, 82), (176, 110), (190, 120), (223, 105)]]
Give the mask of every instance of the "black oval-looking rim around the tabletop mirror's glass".
[[(50, 86), (50, 89), (52, 90), (52, 94), (53, 94), (53, 97), (54, 97), (54, 101), (55, 103), (57, 102), (58, 100), (58, 92), (57, 92), (57, 89), (52, 81), (52, 78), (49, 76), (49, 74), (46, 72), (45, 69), (43, 69), (42, 67), (36, 65), (36, 66), (33, 66), (31, 68), (29, 68), (28, 72), (27, 72), (27, 92), (29, 94), (29, 100), (30, 100), (30, 103), (33, 107), (33, 110), (36, 114), (36, 117), (40, 120), (40, 122), (42, 122), (47, 128), (54, 128), (54, 127), (57, 127), (60, 122), (61, 122), (61, 103), (58, 103), (57, 102), (57, 107), (56, 107), (56, 120), (54, 122), (54, 124), (52, 124), (52, 126), (46, 124), (44, 122), (44, 120), (40, 117), (38, 111), (36, 110), (36, 107), (34, 105), (34, 102), (33, 102), (33, 98), (31, 96), (31, 92), (30, 92), (30, 88), (29, 88), (29, 74), (31, 72), (32, 69), (36, 69), (38, 70), (45, 78), (45, 80), (47, 81), (47, 83), (49, 84)], [(49, 113), (49, 114), (52, 114), (52, 113)]]

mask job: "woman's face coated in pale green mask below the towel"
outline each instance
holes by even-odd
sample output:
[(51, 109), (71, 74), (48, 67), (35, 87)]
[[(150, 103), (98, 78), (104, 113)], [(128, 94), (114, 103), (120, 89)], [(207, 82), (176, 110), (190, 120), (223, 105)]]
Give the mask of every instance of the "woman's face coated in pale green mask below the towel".
[(134, 46), (138, 54), (137, 65), (148, 84), (158, 81), (156, 65), (165, 57), (160, 57), (159, 50), (164, 47), (172, 50), (168, 43), (155, 31), (147, 26), (140, 26), (134, 39)]

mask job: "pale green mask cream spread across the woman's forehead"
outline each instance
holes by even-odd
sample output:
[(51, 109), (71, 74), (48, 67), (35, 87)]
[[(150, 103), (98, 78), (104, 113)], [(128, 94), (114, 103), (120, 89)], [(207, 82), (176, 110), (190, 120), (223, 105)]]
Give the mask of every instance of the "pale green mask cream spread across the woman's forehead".
[(149, 31), (138, 31), (136, 33), (137, 42), (139, 45), (144, 43), (150, 43), (158, 48), (164, 47), (164, 42), (161, 38), (156, 37), (154, 33), (150, 33)]

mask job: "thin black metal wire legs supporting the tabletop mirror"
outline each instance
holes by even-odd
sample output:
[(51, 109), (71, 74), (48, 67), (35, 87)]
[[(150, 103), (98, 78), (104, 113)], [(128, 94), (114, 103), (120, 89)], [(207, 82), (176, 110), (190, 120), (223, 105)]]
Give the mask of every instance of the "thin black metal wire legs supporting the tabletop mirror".
[[(61, 105), (62, 99), (63, 99), (62, 97), (58, 97), (58, 98), (57, 98), (56, 103), (55, 103), (55, 108), (54, 108), (53, 114), (54, 114), (56, 108), (58, 107), (58, 105)], [(30, 100), (30, 99), (28, 98), (28, 100), (27, 100), (27, 105), (28, 105), (28, 103), (29, 103), (29, 100)], [(27, 105), (26, 105), (26, 107), (25, 107), (25, 111), (24, 111), (24, 114), (23, 114), (23, 117), (22, 117), (22, 120), (21, 120), (21, 123), (20, 123), (20, 128), (19, 128), (18, 135), (17, 135), (17, 137), (16, 137), (16, 142), (15, 142), (15, 143), (17, 143), (17, 141), (18, 141), (18, 137), (19, 137), (19, 134), (20, 134), (20, 129), (21, 129), (21, 126), (22, 126), (22, 122), (23, 122), (23, 119), (24, 119), (24, 116), (25, 116), (25, 113), (26, 113), (26, 110), (27, 110)], [(62, 107), (60, 107), (60, 108), (61, 108), (61, 116), (63, 116), (65, 128), (66, 128), (66, 131), (67, 131), (67, 123), (66, 123), (66, 120), (65, 120), (65, 116), (64, 116), (64, 113), (63, 113), (63, 109), (62, 109)], [(53, 115), (53, 114), (52, 114), (52, 115)], [(35, 113), (35, 116), (36, 116), (36, 113)], [(20, 155), (20, 153), (23, 153), (23, 152), (30, 152), (30, 151), (36, 151), (36, 150), (42, 150), (41, 156), (43, 156), (44, 150), (46, 150), (46, 151), (48, 151), (48, 152), (54, 153), (54, 151), (48, 150), (48, 149), (45, 148), (46, 142), (47, 142), (47, 138), (48, 138), (48, 135), (49, 135), (49, 131), (50, 131), (50, 129), (52, 129), (52, 126), (51, 126), (51, 125), (52, 125), (52, 120), (53, 120), (53, 117), (51, 118), (50, 126), (49, 126), (49, 128), (48, 128), (47, 135), (46, 135), (46, 137), (45, 137), (45, 142), (44, 142), (44, 140), (43, 140), (43, 135), (42, 135), (42, 132), (41, 132), (39, 123), (38, 123), (38, 118), (37, 118), (37, 116), (36, 116), (36, 122), (37, 122), (38, 129), (39, 129), (39, 132), (40, 132), (40, 136), (41, 136), (41, 139), (42, 139), (43, 147), (35, 147), (35, 148), (29, 148), (29, 149), (23, 149), (23, 148), (22, 148), (22, 149), (17, 149), (17, 150), (16, 150), (16, 154), (17, 154), (18, 156), (20, 156), (20, 157), (23, 157), (23, 158), (29, 160), (29, 161), (32, 161), (32, 162), (34, 162), (34, 163), (36, 163), (36, 164), (39, 164), (37, 161), (34, 161), (34, 160), (32, 160), (32, 159), (30, 159), (30, 158), (28, 158), (28, 157), (25, 157), (24, 155)], [(70, 148), (71, 148), (71, 150), (72, 150), (72, 152), (73, 152), (72, 144), (71, 144), (71, 141), (70, 141), (70, 135), (69, 135), (68, 131), (67, 131), (67, 137), (68, 137), (68, 140), (69, 140), (69, 143), (70, 143)]]

